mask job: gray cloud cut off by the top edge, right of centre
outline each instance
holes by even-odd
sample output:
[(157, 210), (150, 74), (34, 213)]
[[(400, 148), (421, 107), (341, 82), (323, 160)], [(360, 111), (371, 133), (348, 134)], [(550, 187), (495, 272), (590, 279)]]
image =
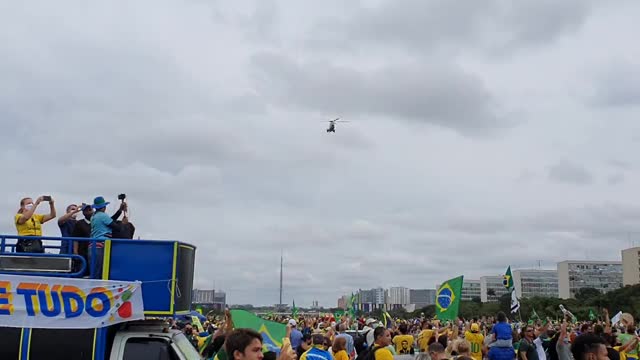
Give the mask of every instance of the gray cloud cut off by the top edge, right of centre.
[[(348, 43), (351, 48), (395, 46), (413, 54), (439, 49), (483, 48), (489, 52), (548, 45), (578, 31), (591, 14), (591, 2), (572, 0), (503, 0), (482, 3), (451, 1), (382, 1), (350, 9), (352, 16), (325, 20), (311, 41), (324, 46)], [(343, 48), (349, 51), (348, 46)]]

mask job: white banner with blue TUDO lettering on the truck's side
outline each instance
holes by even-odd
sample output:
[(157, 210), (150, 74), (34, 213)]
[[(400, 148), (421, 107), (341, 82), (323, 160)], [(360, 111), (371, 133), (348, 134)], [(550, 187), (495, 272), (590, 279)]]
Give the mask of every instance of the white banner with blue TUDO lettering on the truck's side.
[(0, 327), (91, 329), (140, 319), (139, 281), (0, 274)]

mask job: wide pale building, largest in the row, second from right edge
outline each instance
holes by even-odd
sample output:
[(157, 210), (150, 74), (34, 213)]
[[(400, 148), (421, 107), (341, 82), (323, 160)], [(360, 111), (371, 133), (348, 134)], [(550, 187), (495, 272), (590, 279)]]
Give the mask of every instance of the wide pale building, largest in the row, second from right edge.
[(582, 288), (603, 293), (622, 287), (621, 261), (574, 261), (558, 263), (558, 293), (561, 299), (575, 298)]

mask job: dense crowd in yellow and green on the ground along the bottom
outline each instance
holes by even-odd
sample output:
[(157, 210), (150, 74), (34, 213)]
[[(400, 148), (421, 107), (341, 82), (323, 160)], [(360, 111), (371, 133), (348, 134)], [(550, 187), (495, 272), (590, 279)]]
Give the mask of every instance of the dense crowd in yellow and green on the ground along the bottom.
[[(529, 322), (495, 317), (441, 322), (398, 320), (384, 326), (373, 318), (296, 317), (276, 319), (287, 324), (280, 360), (638, 360), (640, 337), (632, 322), (575, 322), (570, 316)], [(232, 319), (207, 323), (194, 346), (205, 359), (275, 360), (263, 352), (260, 334), (233, 329)], [(196, 345), (197, 344), (197, 345)]]

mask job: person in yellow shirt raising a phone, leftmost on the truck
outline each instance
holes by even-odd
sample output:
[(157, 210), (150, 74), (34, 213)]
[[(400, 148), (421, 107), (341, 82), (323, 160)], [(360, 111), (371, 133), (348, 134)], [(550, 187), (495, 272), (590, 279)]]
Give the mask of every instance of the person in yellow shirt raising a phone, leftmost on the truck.
[[(49, 203), (49, 214), (36, 214), (38, 205), (43, 201)], [(55, 219), (55, 217), (56, 207), (51, 196), (40, 196), (35, 202), (28, 197), (20, 200), (20, 209), (14, 219), (18, 236), (42, 236), (42, 224)], [(44, 246), (42, 240), (38, 238), (19, 239), (16, 244), (16, 252), (44, 253)]]

